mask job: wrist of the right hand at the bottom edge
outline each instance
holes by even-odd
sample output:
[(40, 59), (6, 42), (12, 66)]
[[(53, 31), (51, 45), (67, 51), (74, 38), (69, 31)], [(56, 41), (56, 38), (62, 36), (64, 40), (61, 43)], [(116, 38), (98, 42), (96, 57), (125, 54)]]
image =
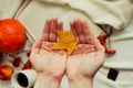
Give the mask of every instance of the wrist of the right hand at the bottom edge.
[(78, 77), (69, 80), (70, 88), (93, 88), (93, 78)]

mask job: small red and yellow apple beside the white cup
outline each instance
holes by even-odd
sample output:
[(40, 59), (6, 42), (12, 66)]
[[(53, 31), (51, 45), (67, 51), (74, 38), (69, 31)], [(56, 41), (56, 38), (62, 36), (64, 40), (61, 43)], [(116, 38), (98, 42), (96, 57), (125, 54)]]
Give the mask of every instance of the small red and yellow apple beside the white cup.
[(8, 65), (0, 66), (0, 79), (7, 80), (10, 79), (13, 74), (13, 68)]

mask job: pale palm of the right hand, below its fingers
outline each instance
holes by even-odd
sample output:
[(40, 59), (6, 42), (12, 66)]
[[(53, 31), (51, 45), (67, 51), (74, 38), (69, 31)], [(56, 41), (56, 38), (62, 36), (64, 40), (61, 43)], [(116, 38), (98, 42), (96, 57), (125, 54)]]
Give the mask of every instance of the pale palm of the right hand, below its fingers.
[[(84, 45), (82, 46), (82, 50), (83, 48)], [(66, 70), (68, 75), (70, 75), (71, 78), (79, 75), (89, 77), (93, 77), (95, 75), (96, 70), (102, 65), (103, 59), (101, 59), (101, 57), (99, 56), (100, 54), (98, 54), (98, 52), (94, 50), (95, 48), (92, 47), (90, 48), (90, 51), (89, 50), (82, 51), (82, 53), (81, 50), (76, 50), (80, 51), (81, 54), (75, 54), (68, 58)]]

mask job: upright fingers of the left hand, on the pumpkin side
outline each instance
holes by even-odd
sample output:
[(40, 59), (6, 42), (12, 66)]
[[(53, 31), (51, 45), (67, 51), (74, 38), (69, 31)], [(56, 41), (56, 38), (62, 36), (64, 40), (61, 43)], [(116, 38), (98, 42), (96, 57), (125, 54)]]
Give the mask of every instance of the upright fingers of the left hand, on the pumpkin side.
[(42, 32), (42, 41), (57, 42), (55, 30), (63, 30), (63, 23), (59, 22), (58, 18), (48, 19)]

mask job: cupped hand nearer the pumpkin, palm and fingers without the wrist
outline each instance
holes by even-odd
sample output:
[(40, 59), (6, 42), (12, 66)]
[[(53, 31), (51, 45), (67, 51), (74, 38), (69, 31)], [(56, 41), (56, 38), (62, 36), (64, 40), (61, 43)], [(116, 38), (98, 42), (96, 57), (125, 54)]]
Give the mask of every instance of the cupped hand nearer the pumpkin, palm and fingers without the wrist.
[(66, 66), (66, 53), (53, 51), (53, 44), (58, 36), (55, 30), (62, 30), (63, 24), (57, 18), (45, 21), (41, 38), (37, 41), (31, 50), (30, 62), (39, 74), (61, 79)]

